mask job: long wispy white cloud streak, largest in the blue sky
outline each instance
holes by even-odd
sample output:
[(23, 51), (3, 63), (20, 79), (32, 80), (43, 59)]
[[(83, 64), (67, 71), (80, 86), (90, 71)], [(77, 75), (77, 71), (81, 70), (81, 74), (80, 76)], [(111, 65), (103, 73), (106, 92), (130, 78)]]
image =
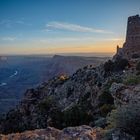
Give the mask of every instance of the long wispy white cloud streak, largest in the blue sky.
[(71, 24), (65, 22), (49, 22), (46, 24), (45, 30), (65, 30), (65, 31), (73, 31), (73, 32), (88, 32), (88, 33), (112, 33), (110, 31), (95, 29), (86, 26), (81, 26), (78, 24)]

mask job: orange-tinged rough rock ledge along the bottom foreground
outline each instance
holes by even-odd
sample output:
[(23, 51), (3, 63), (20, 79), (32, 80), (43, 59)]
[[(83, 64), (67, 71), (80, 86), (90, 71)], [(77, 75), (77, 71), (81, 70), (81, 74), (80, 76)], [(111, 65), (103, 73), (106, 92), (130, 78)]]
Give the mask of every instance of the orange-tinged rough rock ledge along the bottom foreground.
[(89, 126), (68, 127), (61, 130), (48, 127), (15, 133), (9, 135), (0, 135), (0, 140), (97, 140), (100, 129), (93, 129)]

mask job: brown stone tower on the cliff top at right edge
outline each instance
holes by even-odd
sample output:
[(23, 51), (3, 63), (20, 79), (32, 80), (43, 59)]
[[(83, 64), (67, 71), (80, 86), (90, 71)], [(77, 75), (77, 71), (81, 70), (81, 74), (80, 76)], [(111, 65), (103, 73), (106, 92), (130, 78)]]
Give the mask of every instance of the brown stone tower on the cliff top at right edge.
[(131, 16), (127, 22), (126, 41), (122, 48), (117, 46), (117, 56), (124, 58), (140, 57), (140, 16)]

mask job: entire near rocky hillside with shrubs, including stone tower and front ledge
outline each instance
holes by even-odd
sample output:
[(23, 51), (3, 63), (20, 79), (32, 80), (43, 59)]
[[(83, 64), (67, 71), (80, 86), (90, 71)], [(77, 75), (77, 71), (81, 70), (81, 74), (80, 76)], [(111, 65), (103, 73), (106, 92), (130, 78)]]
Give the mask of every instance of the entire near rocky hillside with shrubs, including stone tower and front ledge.
[(139, 140), (140, 17), (112, 60), (28, 89), (0, 119), (1, 140)]

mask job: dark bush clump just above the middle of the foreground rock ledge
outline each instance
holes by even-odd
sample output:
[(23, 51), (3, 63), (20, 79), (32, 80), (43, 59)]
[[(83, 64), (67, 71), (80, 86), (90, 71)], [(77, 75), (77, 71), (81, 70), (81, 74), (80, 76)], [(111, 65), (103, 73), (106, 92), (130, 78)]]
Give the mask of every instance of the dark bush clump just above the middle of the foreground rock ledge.
[(49, 112), (49, 116), (51, 120), (48, 125), (58, 129), (68, 126), (88, 125), (93, 120), (92, 115), (79, 105), (75, 105), (63, 112), (59, 108), (54, 108)]

